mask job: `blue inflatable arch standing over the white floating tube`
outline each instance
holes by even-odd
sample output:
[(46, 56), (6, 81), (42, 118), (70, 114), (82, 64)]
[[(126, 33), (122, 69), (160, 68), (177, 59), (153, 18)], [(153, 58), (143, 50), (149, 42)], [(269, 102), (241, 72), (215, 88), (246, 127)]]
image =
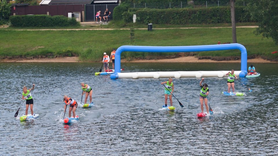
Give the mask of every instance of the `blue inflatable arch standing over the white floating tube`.
[(115, 54), (115, 73), (111, 74), (111, 79), (118, 79), (118, 73), (121, 72), (121, 53), (123, 51), (134, 52), (192, 52), (192, 51), (216, 51), (216, 50), (230, 50), (239, 49), (241, 51), (241, 70), (240, 77), (244, 77), (247, 73), (247, 51), (246, 48), (237, 43), (233, 44), (214, 44), (214, 45), (200, 45), (200, 46), (176, 46), (176, 47), (153, 47), (153, 46), (121, 46), (117, 49)]

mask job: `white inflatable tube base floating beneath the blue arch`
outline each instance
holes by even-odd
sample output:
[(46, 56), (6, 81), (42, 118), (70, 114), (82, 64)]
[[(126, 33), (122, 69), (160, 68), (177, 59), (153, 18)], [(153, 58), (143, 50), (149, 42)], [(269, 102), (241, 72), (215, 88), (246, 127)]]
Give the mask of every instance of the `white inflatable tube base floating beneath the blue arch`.
[[(182, 78), (182, 77), (228, 77), (226, 73), (231, 71), (175, 71), (175, 72), (134, 72), (118, 73), (118, 79), (140, 79), (140, 78)], [(238, 76), (242, 71), (235, 71)]]

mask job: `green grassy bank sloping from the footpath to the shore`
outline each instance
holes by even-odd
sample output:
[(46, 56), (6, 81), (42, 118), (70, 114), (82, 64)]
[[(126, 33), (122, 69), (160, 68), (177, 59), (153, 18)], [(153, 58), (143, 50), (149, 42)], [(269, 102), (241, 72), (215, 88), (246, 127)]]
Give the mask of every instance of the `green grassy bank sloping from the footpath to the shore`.
[[(255, 36), (255, 28), (237, 28), (237, 42), (246, 47), (248, 57), (262, 56), (278, 60), (271, 54), (278, 50), (271, 39)], [(231, 28), (161, 29), (135, 30), (135, 41), (130, 40), (129, 30), (61, 30), (61, 31), (17, 31), (0, 29), (0, 56), (79, 56), (83, 61), (100, 61), (103, 52), (110, 52), (122, 45), (145, 46), (189, 46), (217, 44), (218, 41), (232, 42)], [(124, 52), (122, 57), (156, 59), (161, 55), (173, 53), (131, 53)], [(189, 54), (189, 53), (188, 53)], [(195, 53), (200, 57), (240, 56), (239, 50), (208, 51)]]

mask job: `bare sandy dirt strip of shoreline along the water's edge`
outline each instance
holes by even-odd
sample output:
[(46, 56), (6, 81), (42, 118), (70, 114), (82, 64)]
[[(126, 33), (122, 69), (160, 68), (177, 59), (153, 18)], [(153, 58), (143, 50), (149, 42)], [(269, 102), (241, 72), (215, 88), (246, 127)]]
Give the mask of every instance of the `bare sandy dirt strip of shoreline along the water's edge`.
[[(40, 59), (2, 59), (0, 62), (81, 62), (78, 57), (56, 57), (56, 58), (40, 58)], [(125, 59), (122, 59), (121, 62), (128, 62)], [(226, 63), (226, 62), (241, 62), (241, 60), (230, 60), (230, 61), (215, 61), (209, 59), (198, 60), (195, 56), (182, 56), (173, 59), (160, 59), (160, 60), (133, 60), (129, 62), (217, 62), (217, 63)], [(262, 58), (248, 59), (247, 62), (252, 63), (278, 63), (270, 62)]]

